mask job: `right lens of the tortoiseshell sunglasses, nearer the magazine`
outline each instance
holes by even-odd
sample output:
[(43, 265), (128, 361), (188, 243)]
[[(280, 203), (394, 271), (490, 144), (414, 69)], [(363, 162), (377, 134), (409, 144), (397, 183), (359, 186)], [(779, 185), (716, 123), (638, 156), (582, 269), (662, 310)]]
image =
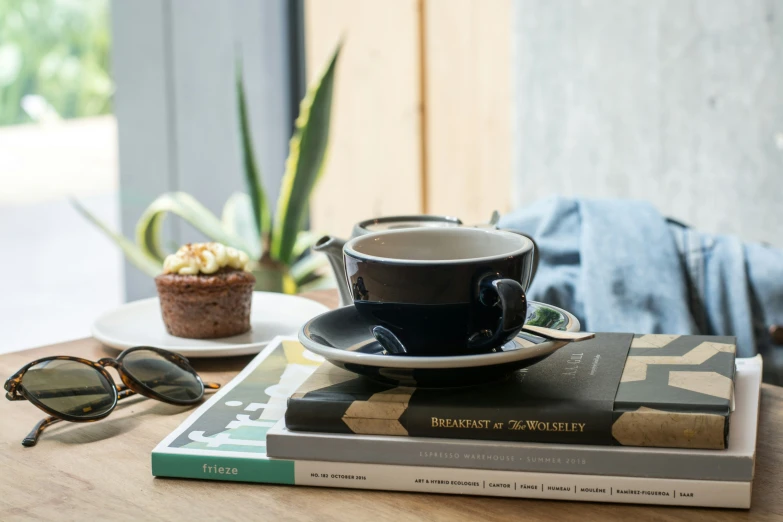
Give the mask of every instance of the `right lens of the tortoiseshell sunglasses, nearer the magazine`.
[(154, 350), (132, 351), (122, 364), (131, 377), (166, 399), (195, 401), (204, 395), (204, 385), (193, 370)]

